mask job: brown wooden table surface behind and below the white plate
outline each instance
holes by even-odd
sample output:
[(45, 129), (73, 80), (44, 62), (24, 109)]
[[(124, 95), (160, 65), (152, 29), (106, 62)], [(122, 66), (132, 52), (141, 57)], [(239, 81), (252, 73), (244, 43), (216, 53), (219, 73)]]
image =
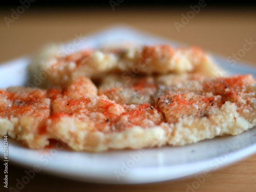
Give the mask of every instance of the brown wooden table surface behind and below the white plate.
[[(13, 19), (9, 27), (3, 18), (7, 16), (12, 19), (12, 11), (2, 9), (0, 61), (30, 54), (47, 42), (66, 41), (75, 38), (75, 34), (89, 34), (111, 25), (126, 24), (188, 45), (200, 46), (227, 58), (238, 54), (240, 56), (237, 59), (249, 61), (256, 66), (256, 11), (253, 9), (211, 10), (206, 5), (193, 18), (193, 15), (190, 16), (191, 19), (186, 24), (184, 20), (182, 23), (181, 14), (187, 15), (189, 7), (127, 9), (124, 4), (125, 2), (115, 7), (115, 11), (111, 7), (59, 10), (28, 8), (17, 19)], [(179, 32), (175, 22), (182, 25)], [(254, 43), (252, 42), (250, 50), (243, 51), (246, 39)], [(16, 186), (16, 179), (24, 176), (25, 169), (10, 162), (9, 186)], [(256, 191), (256, 154), (211, 172), (210, 177), (197, 189), (188, 189), (194, 181), (197, 181), (196, 178), (191, 176), (154, 184), (105, 185), (71, 181), (39, 173), (20, 191)], [(3, 191), (4, 187), (0, 187), (0, 191)]]

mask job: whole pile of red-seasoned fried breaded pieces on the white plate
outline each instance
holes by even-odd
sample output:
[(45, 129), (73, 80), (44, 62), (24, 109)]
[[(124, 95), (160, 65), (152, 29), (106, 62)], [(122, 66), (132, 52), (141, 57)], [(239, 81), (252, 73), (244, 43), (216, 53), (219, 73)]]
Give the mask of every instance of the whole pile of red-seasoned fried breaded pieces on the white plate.
[(198, 48), (57, 52), (47, 49), (30, 65), (32, 76), (47, 77), (40, 86), (52, 89), (0, 90), (0, 136), (96, 152), (183, 145), (256, 125), (254, 79), (218, 77)]

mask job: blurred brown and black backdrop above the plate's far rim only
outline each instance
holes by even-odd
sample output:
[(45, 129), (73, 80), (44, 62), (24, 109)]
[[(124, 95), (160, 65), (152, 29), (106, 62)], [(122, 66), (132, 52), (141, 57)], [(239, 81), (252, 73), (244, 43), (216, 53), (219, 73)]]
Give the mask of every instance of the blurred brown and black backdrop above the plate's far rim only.
[[(75, 34), (118, 24), (226, 56), (241, 49), (246, 38), (256, 41), (255, 1), (5, 0), (0, 4), (0, 61), (29, 54), (47, 42), (67, 41)], [(256, 62), (255, 47), (242, 59)]]

